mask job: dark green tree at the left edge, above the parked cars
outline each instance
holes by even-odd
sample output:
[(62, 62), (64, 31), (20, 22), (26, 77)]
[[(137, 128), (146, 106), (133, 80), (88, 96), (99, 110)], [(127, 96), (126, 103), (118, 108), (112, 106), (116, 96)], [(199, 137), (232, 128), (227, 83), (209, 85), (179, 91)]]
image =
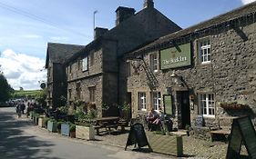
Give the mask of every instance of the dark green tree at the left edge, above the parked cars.
[(5, 102), (11, 98), (14, 89), (8, 84), (5, 75), (0, 70), (0, 102)]

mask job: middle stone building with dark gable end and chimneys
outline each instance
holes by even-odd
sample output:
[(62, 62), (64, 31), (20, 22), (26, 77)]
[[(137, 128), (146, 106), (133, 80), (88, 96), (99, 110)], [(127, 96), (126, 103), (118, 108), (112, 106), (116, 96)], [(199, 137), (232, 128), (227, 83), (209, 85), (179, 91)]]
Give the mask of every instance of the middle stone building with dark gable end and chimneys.
[[(65, 62), (67, 101), (96, 104), (98, 115), (102, 115), (102, 104), (120, 103), (118, 58), (181, 29), (159, 13), (152, 0), (145, 0), (144, 8), (137, 14), (133, 8), (123, 6), (119, 6), (116, 13), (114, 28), (97, 27), (95, 39)], [(108, 115), (115, 114), (111, 113)]]

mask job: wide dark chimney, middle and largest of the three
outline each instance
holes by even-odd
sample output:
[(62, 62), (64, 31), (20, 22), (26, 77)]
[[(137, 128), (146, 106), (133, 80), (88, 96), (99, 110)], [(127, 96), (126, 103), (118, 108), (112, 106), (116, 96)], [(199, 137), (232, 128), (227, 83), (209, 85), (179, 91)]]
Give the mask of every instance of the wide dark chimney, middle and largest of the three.
[(117, 13), (116, 25), (120, 25), (123, 21), (125, 21), (130, 16), (135, 14), (135, 9), (119, 6), (118, 9), (116, 10), (116, 13)]

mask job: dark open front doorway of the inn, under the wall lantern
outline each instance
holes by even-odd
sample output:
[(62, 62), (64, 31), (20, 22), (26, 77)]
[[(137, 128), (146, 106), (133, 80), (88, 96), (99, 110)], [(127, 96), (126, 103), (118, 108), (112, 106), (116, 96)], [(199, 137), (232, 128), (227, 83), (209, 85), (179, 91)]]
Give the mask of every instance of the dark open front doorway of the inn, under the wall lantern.
[(189, 92), (180, 91), (178, 94), (178, 102), (180, 109), (181, 121), (179, 122), (179, 128), (184, 129), (186, 125), (190, 125), (190, 108), (189, 108)]

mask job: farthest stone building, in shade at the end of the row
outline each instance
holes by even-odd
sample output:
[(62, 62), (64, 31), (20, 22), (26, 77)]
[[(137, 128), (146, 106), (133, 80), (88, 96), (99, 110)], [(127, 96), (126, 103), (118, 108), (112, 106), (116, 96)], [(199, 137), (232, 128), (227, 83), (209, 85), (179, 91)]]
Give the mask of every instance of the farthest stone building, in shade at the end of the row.
[(47, 69), (47, 105), (59, 106), (61, 96), (67, 98), (66, 70), (63, 63), (82, 48), (82, 45), (48, 43), (45, 66)]

